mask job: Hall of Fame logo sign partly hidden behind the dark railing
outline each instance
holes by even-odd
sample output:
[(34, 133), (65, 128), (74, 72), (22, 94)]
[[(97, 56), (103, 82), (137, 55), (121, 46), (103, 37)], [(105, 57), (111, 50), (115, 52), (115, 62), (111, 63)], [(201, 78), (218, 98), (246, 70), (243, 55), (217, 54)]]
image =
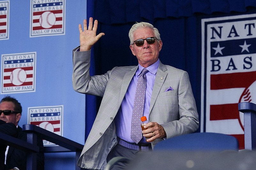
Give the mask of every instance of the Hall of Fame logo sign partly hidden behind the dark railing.
[[(28, 108), (28, 124), (34, 124), (43, 129), (63, 136), (63, 105)], [(43, 140), (44, 146), (56, 144)]]

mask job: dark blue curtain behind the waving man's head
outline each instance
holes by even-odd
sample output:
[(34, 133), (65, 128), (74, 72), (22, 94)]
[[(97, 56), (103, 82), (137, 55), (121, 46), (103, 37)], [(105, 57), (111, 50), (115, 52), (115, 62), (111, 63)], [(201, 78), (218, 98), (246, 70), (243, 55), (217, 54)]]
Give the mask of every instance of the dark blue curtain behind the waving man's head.
[[(161, 34), (163, 41), (159, 55), (161, 62), (189, 73), (199, 115), (200, 19), (255, 13), (256, 7), (255, 0), (95, 0), (90, 2), (94, 4), (94, 12), (87, 13), (87, 17), (97, 19), (99, 21), (97, 32), (105, 33), (105, 36), (94, 45), (95, 74), (104, 74), (115, 66), (138, 65), (136, 57), (129, 48), (128, 32), (135, 22), (149, 22)], [(96, 110), (98, 110), (101, 98), (97, 97), (96, 101)], [(91, 126), (86, 128), (90, 130)]]

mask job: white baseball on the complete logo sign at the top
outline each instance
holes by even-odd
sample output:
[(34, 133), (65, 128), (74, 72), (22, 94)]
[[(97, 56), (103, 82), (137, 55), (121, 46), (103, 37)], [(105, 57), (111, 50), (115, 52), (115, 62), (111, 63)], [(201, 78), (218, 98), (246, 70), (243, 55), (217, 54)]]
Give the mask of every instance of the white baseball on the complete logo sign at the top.
[(56, 16), (54, 13), (46, 11), (40, 16), (39, 22), (43, 28), (51, 28), (56, 22)]

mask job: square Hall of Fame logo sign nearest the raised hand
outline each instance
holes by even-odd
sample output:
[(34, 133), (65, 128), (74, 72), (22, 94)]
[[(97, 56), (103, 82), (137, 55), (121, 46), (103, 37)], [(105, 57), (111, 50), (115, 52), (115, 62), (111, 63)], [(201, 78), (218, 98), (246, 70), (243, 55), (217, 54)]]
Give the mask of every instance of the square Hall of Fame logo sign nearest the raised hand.
[(30, 38), (65, 35), (65, 0), (31, 0)]

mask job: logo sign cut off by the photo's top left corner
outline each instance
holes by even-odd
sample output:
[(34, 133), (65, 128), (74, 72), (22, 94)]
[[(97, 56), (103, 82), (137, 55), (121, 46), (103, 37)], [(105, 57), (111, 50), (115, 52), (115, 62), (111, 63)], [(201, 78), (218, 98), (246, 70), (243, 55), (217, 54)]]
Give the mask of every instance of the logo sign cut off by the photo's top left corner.
[(10, 1), (0, 1), (0, 40), (9, 39)]

